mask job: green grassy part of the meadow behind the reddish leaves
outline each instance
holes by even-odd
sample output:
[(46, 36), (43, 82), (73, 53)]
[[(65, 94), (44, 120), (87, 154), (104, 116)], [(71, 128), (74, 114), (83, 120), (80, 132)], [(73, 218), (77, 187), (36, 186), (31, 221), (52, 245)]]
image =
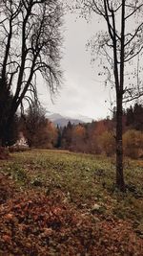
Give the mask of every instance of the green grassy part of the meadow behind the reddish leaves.
[(143, 161), (125, 161), (126, 193), (114, 186), (114, 159), (69, 151), (25, 151), (11, 154), (0, 162), (0, 172), (10, 175), (21, 190), (40, 190), (51, 194), (59, 189), (65, 199), (91, 211), (102, 206), (99, 214), (143, 224)]

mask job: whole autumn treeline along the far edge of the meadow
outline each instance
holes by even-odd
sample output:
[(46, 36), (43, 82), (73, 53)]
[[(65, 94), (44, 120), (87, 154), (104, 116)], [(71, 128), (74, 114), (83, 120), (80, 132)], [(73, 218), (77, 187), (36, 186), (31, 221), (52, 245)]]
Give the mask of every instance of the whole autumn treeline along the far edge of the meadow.
[[(12, 127), (9, 144), (16, 141), (22, 133), (30, 148), (57, 148), (86, 153), (104, 153), (108, 156), (115, 153), (115, 108), (112, 111), (112, 119), (106, 118), (78, 125), (69, 122), (62, 128), (55, 127), (47, 119), (43, 107), (33, 104), (25, 115), (15, 118), (15, 125)], [(133, 158), (142, 157), (143, 105), (135, 104), (124, 110), (123, 131), (125, 155)]]

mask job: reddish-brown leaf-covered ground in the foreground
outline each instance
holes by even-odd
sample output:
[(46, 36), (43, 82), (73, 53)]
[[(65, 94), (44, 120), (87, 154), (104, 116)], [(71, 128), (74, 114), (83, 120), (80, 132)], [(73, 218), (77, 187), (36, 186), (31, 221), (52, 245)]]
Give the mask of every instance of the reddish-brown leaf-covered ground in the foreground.
[[(131, 222), (106, 220), (65, 200), (60, 189), (19, 192), (1, 175), (0, 255), (136, 255), (142, 240)], [(10, 184), (10, 187), (8, 185)], [(3, 194), (2, 194), (3, 195)], [(7, 197), (6, 197), (7, 195)], [(2, 196), (3, 197), (3, 196)]]

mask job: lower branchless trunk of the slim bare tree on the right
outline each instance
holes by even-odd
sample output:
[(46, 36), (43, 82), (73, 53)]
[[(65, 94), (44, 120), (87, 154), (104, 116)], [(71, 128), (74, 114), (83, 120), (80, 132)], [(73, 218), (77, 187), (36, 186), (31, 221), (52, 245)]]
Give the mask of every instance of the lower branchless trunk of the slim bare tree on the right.
[(123, 175), (123, 144), (122, 144), (122, 96), (116, 99), (116, 186), (124, 192), (125, 183)]

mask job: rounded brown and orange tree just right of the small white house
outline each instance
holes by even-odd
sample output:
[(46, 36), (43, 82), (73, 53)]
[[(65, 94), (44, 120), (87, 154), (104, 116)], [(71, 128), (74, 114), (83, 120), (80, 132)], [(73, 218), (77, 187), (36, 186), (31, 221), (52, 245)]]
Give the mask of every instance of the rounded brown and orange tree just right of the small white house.
[(46, 118), (46, 109), (34, 102), (21, 120), (20, 130), (31, 148), (52, 148), (57, 141), (57, 129)]

